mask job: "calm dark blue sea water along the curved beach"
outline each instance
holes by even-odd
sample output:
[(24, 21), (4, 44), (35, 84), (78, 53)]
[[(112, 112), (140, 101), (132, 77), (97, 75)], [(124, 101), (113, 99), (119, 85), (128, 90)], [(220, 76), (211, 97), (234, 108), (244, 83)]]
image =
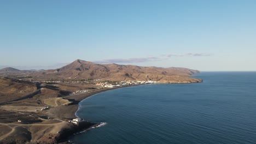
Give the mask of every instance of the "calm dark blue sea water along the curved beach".
[(256, 143), (256, 72), (204, 72), (202, 83), (114, 89), (77, 115), (105, 122), (74, 143)]

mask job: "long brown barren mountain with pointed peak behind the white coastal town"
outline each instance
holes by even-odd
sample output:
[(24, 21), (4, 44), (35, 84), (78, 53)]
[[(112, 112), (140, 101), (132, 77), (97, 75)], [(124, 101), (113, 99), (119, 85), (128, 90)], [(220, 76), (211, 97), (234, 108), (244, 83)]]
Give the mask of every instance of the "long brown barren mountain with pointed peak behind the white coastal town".
[(161, 83), (190, 83), (201, 82), (193, 79), (191, 74), (200, 73), (198, 70), (187, 68), (158, 68), (138, 67), (136, 65), (96, 64), (92, 62), (76, 61), (55, 70), (45, 70), (46, 75), (59, 78), (103, 79), (110, 81), (159, 81)]

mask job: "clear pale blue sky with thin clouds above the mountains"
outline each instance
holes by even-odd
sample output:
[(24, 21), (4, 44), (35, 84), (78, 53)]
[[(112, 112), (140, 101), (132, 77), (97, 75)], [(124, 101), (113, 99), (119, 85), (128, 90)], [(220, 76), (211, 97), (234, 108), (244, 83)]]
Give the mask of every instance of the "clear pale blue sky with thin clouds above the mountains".
[(256, 1), (0, 1), (0, 68), (256, 71)]

